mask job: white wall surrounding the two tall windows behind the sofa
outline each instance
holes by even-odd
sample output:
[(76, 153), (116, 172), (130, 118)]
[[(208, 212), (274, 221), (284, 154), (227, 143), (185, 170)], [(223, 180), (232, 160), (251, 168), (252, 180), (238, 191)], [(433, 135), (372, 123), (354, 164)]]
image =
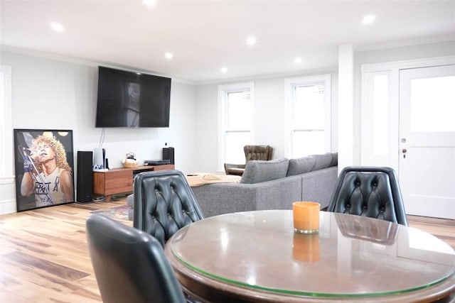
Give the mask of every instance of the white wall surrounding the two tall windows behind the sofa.
[(336, 134), (336, 109), (338, 109), (338, 74), (336, 68), (312, 70), (286, 76), (241, 79), (237, 82), (198, 85), (197, 87), (197, 133), (198, 133), (198, 167), (199, 171), (224, 171), (218, 167), (218, 85), (240, 82), (255, 82), (255, 128), (253, 144), (268, 144), (275, 148), (274, 158), (284, 158), (284, 79), (308, 75), (331, 74), (332, 101), (332, 142), (331, 151), (336, 151), (338, 139)]

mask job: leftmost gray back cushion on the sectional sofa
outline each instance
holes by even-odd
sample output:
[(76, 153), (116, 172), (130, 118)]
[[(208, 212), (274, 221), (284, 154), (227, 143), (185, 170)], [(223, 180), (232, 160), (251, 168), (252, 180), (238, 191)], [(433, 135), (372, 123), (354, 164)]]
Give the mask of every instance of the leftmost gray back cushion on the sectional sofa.
[(259, 183), (286, 177), (289, 159), (270, 161), (250, 160), (247, 162), (240, 183)]

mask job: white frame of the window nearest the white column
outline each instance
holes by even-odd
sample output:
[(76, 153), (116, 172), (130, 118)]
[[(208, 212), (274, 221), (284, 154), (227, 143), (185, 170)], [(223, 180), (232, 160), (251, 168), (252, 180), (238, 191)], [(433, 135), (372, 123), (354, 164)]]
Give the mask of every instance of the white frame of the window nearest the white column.
[(292, 136), (294, 133), (294, 92), (295, 87), (314, 84), (324, 85), (324, 133), (326, 152), (331, 151), (331, 75), (313, 75), (284, 79), (285, 120), (284, 120), (284, 154), (292, 158)]

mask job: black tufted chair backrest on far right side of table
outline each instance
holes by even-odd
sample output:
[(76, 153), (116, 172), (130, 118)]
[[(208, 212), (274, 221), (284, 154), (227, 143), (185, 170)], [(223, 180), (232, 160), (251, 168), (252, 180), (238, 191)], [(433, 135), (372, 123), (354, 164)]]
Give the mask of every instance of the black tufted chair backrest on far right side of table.
[(400, 184), (390, 167), (345, 167), (327, 211), (408, 225)]

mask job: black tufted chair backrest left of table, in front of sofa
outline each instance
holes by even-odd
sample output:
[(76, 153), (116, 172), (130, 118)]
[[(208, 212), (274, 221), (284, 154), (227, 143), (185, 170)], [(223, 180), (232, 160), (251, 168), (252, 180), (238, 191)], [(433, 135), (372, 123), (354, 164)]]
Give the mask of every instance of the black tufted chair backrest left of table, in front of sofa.
[(154, 236), (162, 246), (180, 228), (203, 218), (182, 172), (141, 172), (134, 177), (133, 226)]

